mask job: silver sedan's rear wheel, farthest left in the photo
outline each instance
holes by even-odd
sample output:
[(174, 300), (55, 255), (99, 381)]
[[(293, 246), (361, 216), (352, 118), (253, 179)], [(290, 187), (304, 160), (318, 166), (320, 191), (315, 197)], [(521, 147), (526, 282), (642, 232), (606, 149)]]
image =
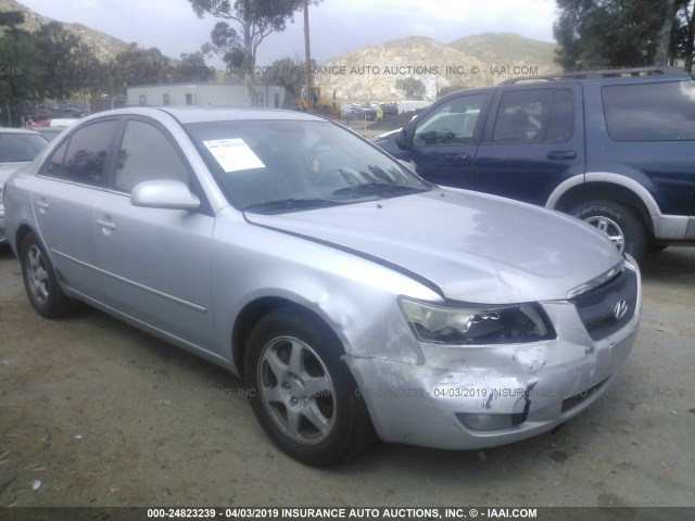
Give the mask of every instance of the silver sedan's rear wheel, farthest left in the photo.
[(36, 313), (43, 318), (58, 318), (73, 309), (73, 302), (63, 293), (46, 249), (34, 232), (22, 241), (20, 262), (24, 288)]

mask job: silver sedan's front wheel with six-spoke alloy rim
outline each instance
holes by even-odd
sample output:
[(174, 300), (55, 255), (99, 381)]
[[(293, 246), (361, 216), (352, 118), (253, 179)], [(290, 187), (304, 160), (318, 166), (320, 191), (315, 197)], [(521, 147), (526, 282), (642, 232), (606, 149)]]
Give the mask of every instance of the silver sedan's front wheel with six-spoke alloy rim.
[(326, 467), (355, 456), (374, 439), (343, 346), (315, 316), (270, 312), (253, 329), (244, 359), (251, 407), (278, 447)]

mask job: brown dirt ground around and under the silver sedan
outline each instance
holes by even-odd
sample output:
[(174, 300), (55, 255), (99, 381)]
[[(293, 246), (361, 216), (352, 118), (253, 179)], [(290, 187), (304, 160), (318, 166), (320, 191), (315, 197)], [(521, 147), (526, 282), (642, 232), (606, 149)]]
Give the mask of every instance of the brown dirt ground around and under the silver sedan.
[(39, 318), (0, 247), (0, 507), (695, 506), (695, 249), (643, 276), (633, 353), (556, 432), (475, 452), (376, 443), (316, 470), (270, 444), (222, 369), (87, 307)]

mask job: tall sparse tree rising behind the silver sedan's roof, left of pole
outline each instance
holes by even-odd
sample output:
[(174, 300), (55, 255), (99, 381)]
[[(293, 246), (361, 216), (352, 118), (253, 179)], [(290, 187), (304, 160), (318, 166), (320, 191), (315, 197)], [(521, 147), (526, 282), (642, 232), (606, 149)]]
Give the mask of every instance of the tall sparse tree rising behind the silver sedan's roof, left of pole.
[[(230, 69), (242, 72), (247, 103), (253, 103), (256, 51), (271, 33), (282, 31), (303, 0), (188, 0), (199, 17), (223, 18), (212, 31), (212, 47)], [(232, 25), (230, 25), (233, 24)]]

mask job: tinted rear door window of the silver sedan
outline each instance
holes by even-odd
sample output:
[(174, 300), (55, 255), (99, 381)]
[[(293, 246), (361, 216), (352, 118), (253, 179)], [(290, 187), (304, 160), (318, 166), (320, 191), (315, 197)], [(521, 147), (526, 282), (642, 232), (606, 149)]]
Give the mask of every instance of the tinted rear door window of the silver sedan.
[(118, 122), (99, 122), (76, 130), (51, 155), (46, 173), (84, 185), (100, 186), (111, 139)]

